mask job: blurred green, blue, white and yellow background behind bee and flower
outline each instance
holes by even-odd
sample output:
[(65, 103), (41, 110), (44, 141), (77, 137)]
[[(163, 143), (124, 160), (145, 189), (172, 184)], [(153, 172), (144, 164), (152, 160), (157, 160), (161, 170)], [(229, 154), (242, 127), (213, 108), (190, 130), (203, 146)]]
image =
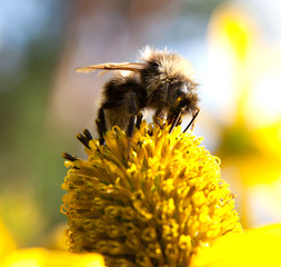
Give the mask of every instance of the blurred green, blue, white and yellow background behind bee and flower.
[(281, 221), (280, 10), (273, 0), (0, 1), (0, 218), (16, 244), (63, 247), (61, 155), (83, 157), (76, 135), (96, 135), (110, 77), (74, 69), (134, 61), (147, 44), (193, 63), (194, 132), (221, 158), (243, 226)]

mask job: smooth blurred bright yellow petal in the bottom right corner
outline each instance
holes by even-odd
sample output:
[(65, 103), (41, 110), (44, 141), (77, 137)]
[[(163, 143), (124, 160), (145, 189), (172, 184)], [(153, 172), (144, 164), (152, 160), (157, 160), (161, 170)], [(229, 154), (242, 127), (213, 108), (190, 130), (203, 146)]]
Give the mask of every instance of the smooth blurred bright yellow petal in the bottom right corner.
[(279, 267), (281, 225), (247, 230), (243, 235), (228, 235), (212, 247), (192, 258), (192, 267)]

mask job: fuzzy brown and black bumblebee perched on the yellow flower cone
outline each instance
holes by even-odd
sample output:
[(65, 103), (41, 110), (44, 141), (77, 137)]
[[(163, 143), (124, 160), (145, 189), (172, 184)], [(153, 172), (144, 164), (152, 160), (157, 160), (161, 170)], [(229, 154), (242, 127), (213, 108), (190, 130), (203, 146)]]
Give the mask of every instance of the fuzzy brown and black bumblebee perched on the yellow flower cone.
[(178, 53), (147, 47), (140, 62), (109, 62), (77, 69), (78, 72), (94, 70), (116, 70), (114, 78), (103, 87), (103, 101), (96, 120), (101, 145), (112, 126), (119, 126), (131, 139), (144, 109), (154, 110), (154, 120), (167, 119), (170, 131), (181, 122), (182, 116), (191, 115), (185, 131), (199, 113), (193, 67)]

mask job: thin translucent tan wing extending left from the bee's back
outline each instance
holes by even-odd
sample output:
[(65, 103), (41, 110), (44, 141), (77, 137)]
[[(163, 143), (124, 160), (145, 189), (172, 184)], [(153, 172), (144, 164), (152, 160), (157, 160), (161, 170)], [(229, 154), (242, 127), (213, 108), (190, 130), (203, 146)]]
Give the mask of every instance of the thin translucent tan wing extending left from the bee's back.
[(77, 68), (76, 71), (89, 73), (89, 72), (92, 72), (92, 71), (96, 71), (96, 70), (103, 70), (103, 71), (108, 71), (108, 70), (130, 70), (130, 71), (139, 72), (144, 67), (145, 67), (144, 63), (138, 63), (138, 62), (136, 62), (136, 63), (130, 63), (130, 62), (112, 63), (111, 62), (111, 63), (101, 63), (101, 65), (90, 65), (90, 66)]

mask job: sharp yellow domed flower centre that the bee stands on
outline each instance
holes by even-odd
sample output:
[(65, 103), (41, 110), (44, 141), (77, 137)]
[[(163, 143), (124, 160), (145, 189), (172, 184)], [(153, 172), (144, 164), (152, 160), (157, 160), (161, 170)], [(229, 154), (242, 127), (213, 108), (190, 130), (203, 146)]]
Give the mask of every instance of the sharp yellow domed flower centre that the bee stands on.
[(217, 238), (240, 233), (220, 160), (201, 138), (142, 121), (130, 142), (118, 127), (106, 146), (79, 135), (88, 159), (64, 154), (62, 188), (73, 253), (94, 251), (108, 266), (188, 266)]

